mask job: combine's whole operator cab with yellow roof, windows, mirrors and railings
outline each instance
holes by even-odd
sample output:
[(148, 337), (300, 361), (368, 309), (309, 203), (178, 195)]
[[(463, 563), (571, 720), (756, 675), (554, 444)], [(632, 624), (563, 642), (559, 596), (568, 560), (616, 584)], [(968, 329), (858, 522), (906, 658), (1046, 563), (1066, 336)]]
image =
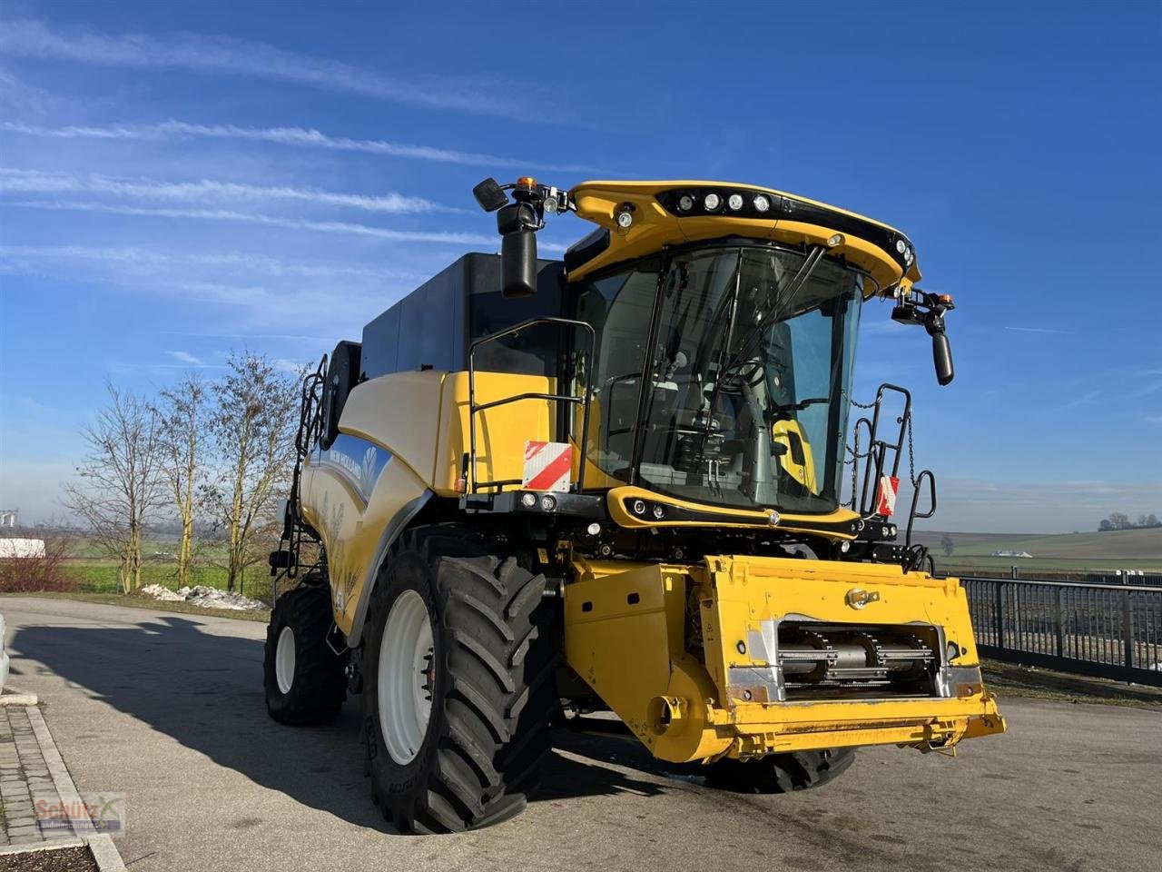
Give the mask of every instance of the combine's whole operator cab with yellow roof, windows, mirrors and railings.
[[(473, 343), (482, 350), (573, 324), (559, 331), (558, 366), (545, 373), (559, 393), (537, 395), (555, 403), (554, 438), (574, 452), (568, 493), (543, 500), (519, 483), (478, 480), (473, 446), (465, 509), (550, 506), (558, 520), (575, 514), (664, 534), (662, 551), (665, 534), (680, 527), (687, 541), (701, 528), (712, 548), (734, 535), (759, 546), (762, 535), (783, 545), (822, 541), (833, 558), (908, 559), (910, 543), (890, 544), (889, 522), (911, 422), (903, 388), (884, 386), (873, 416), (856, 422), (868, 430), (860, 453), (868, 462), (849, 507), (841, 505), (845, 459), (859, 460), (847, 457), (847, 436), (863, 302), (892, 299), (894, 320), (932, 336), (940, 384), (953, 377), (944, 323), (952, 299), (914, 286), (920, 273), (906, 236), (825, 203), (722, 183), (591, 181), (561, 191), (531, 178), (488, 179), (474, 193), (497, 213), (505, 299), (543, 296), (532, 264), (546, 215), (574, 212), (598, 227), (566, 252), (559, 293), (531, 307), (543, 317)], [(486, 371), (471, 358), (469, 371)], [(895, 441), (880, 434), (892, 395), (903, 398)], [(913, 500), (910, 521), (934, 510), (931, 473), (912, 478), (928, 485), (932, 509), (921, 513)], [(616, 553), (604, 543), (593, 550)]]

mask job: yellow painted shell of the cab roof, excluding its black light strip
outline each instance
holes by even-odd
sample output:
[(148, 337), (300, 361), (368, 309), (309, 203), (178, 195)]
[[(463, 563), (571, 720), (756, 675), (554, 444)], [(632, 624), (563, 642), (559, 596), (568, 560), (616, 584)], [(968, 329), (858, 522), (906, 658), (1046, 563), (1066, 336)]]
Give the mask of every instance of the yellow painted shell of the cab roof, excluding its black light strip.
[[(774, 188), (758, 185), (743, 185), (724, 181), (584, 181), (573, 188), (571, 195), (576, 203), (578, 215), (593, 221), (610, 231), (609, 248), (569, 272), (569, 280), (596, 272), (622, 260), (645, 257), (660, 251), (665, 245), (677, 245), (700, 240), (713, 240), (723, 236), (746, 236), (759, 240), (772, 240), (788, 244), (809, 245), (826, 244), (835, 234), (834, 228), (808, 224), (799, 221), (770, 219), (748, 219), (729, 214), (679, 217), (670, 215), (658, 202), (657, 194), (677, 187), (739, 187), (765, 192), (779, 196), (794, 196), (796, 200), (820, 206), (840, 215), (871, 221), (880, 227), (890, 228), (878, 221), (859, 215), (835, 206), (811, 200), (798, 194), (787, 194)], [(630, 203), (633, 207), (633, 223), (629, 229), (617, 226), (615, 214), (619, 206)], [(913, 262), (906, 274), (892, 257), (877, 245), (851, 234), (844, 234), (844, 241), (830, 249), (834, 255), (842, 255), (853, 264), (867, 270), (880, 287), (891, 287), (902, 279), (906, 284), (920, 280), (918, 265)]]

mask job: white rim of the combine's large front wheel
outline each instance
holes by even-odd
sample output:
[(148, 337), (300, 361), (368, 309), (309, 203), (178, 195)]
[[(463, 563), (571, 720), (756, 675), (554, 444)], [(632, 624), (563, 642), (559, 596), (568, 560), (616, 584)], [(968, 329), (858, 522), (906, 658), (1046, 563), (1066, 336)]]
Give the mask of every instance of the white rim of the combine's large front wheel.
[(379, 728), (397, 764), (419, 752), (436, 687), (432, 623), (423, 596), (404, 591), (392, 605), (379, 643)]

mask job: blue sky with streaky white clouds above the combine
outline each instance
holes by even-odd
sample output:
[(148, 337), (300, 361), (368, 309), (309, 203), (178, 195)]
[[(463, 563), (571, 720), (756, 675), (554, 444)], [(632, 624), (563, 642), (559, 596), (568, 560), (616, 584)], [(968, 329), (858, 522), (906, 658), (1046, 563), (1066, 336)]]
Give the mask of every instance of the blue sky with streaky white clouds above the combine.
[(528, 171), (899, 227), (956, 296), (957, 378), (873, 303), (858, 379), (916, 391), (930, 527), (1162, 513), (1162, 6), (400, 6), (0, 0), (0, 505), (62, 514), (107, 378), (358, 338), (495, 250), (471, 187)]

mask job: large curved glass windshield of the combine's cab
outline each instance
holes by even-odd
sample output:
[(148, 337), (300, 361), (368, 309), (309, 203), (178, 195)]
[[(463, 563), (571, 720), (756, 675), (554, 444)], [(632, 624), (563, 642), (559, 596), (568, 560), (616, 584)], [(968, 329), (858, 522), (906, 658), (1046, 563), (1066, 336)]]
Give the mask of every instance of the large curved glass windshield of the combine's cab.
[(695, 502), (835, 509), (866, 280), (822, 249), (741, 244), (584, 283), (589, 462)]

